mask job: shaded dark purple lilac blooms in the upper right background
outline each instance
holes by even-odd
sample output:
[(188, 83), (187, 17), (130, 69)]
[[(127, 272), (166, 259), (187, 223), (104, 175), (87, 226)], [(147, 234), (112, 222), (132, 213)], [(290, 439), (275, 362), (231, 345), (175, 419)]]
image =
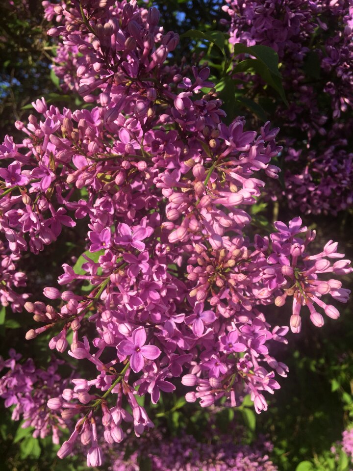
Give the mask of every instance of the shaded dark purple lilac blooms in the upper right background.
[(289, 108), (279, 105), (275, 116), (286, 139), (289, 203), (314, 214), (351, 207), (352, 2), (226, 3), (231, 45), (265, 45), (279, 56)]

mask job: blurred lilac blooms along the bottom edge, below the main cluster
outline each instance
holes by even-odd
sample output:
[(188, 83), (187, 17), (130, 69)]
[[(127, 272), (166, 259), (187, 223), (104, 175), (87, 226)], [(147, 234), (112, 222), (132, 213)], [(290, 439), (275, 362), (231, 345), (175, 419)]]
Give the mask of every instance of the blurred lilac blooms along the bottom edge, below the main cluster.
[[(139, 458), (149, 460), (151, 471), (276, 471), (268, 453), (273, 445), (259, 440), (254, 445), (240, 445), (230, 438), (240, 431), (221, 435), (217, 441), (206, 432), (208, 443), (200, 443), (192, 435), (184, 434), (166, 439), (161, 433), (150, 433), (136, 443), (129, 437), (111, 466), (112, 471), (140, 471)], [(128, 453), (128, 449), (138, 451)], [(114, 455), (113, 455), (114, 456)]]

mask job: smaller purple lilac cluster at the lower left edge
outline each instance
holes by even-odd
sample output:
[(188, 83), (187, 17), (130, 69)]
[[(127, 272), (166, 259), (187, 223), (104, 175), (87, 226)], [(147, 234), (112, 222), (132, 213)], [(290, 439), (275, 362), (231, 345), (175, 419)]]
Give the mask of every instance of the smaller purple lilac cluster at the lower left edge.
[(12, 420), (24, 419), (22, 427), (34, 427), (34, 438), (51, 435), (53, 443), (58, 444), (67, 420), (52, 412), (47, 402), (52, 396), (61, 394), (68, 382), (62, 381), (57, 371), (64, 362), (52, 360), (44, 370), (37, 368), (31, 358), (23, 362), (14, 349), (10, 349), (9, 355), (5, 361), (0, 357), (0, 369), (8, 368), (0, 378), (0, 397), (4, 399), (5, 407), (14, 406)]

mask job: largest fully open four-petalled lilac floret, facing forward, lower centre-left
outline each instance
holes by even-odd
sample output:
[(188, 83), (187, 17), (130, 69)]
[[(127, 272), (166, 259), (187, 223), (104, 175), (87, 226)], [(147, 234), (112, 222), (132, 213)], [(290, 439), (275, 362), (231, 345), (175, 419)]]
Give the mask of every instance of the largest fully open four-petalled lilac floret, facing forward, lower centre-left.
[(155, 360), (161, 354), (155, 345), (145, 345), (146, 338), (145, 329), (141, 326), (132, 332), (131, 340), (123, 340), (117, 347), (122, 355), (131, 355), (130, 366), (135, 373), (143, 369), (145, 358)]

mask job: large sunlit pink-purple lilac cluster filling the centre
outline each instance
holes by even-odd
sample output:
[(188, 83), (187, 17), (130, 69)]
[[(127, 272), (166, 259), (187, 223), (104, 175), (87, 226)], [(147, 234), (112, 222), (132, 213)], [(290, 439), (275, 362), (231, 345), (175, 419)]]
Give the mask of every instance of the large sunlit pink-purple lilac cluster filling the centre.
[(193, 388), (186, 399), (203, 407), (220, 398), (236, 406), (250, 394), (255, 410), (266, 410), (265, 395), (288, 370), (269, 348), (286, 343), (289, 328), (272, 326), (262, 308), (293, 297), (292, 331), (301, 329), (303, 306), (321, 327), (317, 308), (339, 315), (323, 296), (349, 295), (326, 279), (352, 268), (332, 241), (310, 255), (315, 233), (300, 218), (278, 221), (270, 236), (247, 234), (246, 209), (264, 186), (257, 177), (277, 177), (279, 130), (266, 123), (244, 131), (242, 117), (227, 126), (209, 69), (166, 62), (178, 36), (158, 26), (156, 8), (135, 0), (73, 5), (46, 3), (47, 15), (63, 22), (49, 34), (79, 51), (77, 91), (93, 105), (59, 110), (37, 100), (38, 114), (16, 123), (22, 143), (5, 138), (0, 236), (22, 257), (63, 237), (63, 226), (87, 229), (77, 256), (87, 250), (63, 264), (58, 287), (44, 289), (50, 304), (25, 302), (41, 323), (26, 339), (51, 332), (50, 349), (68, 350), (79, 371), (96, 368), (48, 407), (76, 418), (58, 456), (79, 440), (88, 466), (99, 466), (102, 440), (153, 427), (137, 397), (157, 403), (180, 377)]

